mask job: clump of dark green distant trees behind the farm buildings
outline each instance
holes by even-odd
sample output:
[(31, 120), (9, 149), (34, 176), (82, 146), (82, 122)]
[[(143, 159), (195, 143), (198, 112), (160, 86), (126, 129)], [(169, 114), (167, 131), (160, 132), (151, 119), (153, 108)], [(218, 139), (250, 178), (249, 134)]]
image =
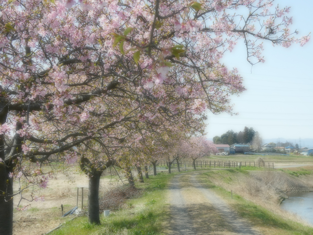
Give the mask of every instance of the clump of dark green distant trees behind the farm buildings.
[(221, 136), (214, 136), (214, 144), (228, 144), (232, 145), (235, 143), (250, 143), (255, 135), (253, 127), (244, 127), (243, 131), (239, 133), (234, 132), (233, 130), (228, 130), (226, 133)]

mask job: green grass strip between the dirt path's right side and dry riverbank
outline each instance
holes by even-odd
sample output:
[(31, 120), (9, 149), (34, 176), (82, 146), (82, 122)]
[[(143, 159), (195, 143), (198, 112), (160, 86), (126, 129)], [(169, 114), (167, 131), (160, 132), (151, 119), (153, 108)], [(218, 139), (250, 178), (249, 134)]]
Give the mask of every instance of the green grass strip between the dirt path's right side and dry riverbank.
[[(226, 191), (222, 187), (214, 185), (209, 177), (218, 176), (218, 173), (226, 172), (205, 172), (199, 176), (199, 180), (203, 186), (213, 189), (224, 200), (228, 201), (229, 205), (241, 217), (246, 218), (253, 226), (258, 227), (265, 235), (312, 235), (313, 228), (302, 225), (292, 220), (281, 218), (279, 215), (270, 212), (262, 206), (259, 206), (251, 201), (245, 200), (243, 197), (233, 194), (231, 199), (231, 192)], [(234, 172), (235, 173), (235, 172)]]

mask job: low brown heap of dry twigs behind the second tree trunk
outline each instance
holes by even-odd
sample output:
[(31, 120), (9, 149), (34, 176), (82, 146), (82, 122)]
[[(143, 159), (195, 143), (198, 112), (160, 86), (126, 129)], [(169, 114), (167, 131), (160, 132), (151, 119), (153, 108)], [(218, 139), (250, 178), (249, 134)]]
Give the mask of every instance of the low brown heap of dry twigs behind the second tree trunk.
[(104, 210), (119, 210), (124, 201), (141, 196), (142, 191), (132, 186), (121, 186), (105, 192), (99, 197), (100, 212)]

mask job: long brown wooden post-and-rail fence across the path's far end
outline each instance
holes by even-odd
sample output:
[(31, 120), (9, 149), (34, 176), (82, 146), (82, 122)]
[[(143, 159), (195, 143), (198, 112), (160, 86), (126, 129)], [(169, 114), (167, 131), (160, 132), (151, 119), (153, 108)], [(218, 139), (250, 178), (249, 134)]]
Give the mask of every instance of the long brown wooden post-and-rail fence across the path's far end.
[[(273, 168), (274, 169), (274, 163), (273, 162), (240, 162), (240, 161), (196, 161), (195, 162), (196, 167), (201, 168), (215, 168), (215, 167), (223, 167), (223, 168), (240, 168), (240, 166), (254, 166), (254, 167), (263, 167), (263, 168)], [(166, 161), (160, 161), (157, 162), (157, 166), (167, 166)], [(180, 162), (180, 167), (192, 167), (192, 161), (186, 161), (186, 162)], [(177, 167), (177, 163), (173, 162), (171, 167)]]

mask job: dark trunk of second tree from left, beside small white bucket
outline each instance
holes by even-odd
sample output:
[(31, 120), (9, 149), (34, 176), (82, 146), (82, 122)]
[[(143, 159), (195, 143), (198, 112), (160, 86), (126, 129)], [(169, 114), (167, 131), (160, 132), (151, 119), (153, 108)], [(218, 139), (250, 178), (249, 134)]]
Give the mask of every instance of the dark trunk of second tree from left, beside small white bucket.
[(99, 216), (99, 183), (101, 172), (97, 171), (89, 178), (88, 217), (90, 223), (100, 224)]

